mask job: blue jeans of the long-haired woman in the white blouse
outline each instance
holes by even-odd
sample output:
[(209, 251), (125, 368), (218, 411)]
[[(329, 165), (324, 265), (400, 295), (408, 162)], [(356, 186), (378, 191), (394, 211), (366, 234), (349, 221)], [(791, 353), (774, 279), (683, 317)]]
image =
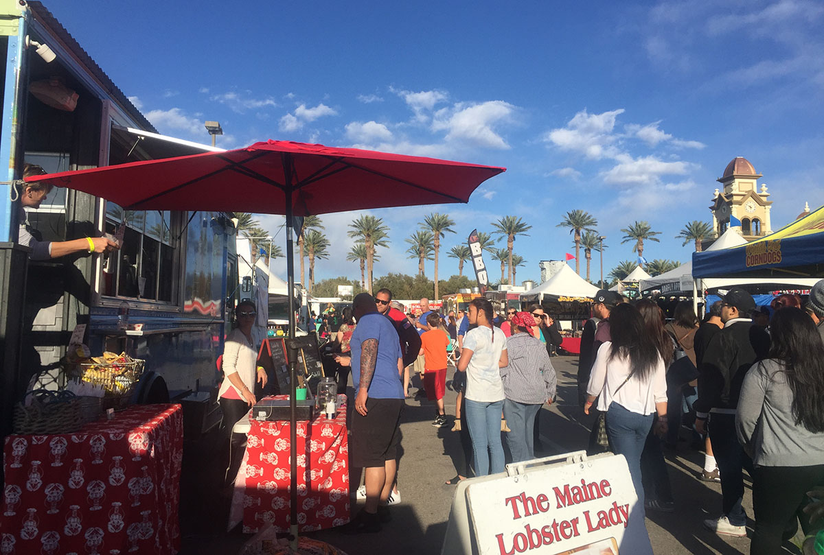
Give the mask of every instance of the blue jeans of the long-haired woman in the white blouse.
[(610, 435), (616, 455), (624, 455), (626, 464), (630, 466), (632, 485), (635, 487), (641, 507), (644, 507), (641, 453), (644, 452), (644, 443), (647, 441), (651, 427), (653, 427), (652, 414), (633, 413), (614, 401), (606, 411), (606, 432)]

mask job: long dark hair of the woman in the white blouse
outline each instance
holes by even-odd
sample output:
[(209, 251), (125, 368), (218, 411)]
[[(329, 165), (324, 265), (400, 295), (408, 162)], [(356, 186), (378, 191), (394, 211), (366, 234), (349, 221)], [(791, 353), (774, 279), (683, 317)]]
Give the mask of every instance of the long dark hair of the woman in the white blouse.
[(610, 336), (612, 345), (608, 361), (615, 357), (629, 357), (631, 371), (640, 380), (652, 375), (661, 355), (637, 308), (621, 303), (611, 310)]

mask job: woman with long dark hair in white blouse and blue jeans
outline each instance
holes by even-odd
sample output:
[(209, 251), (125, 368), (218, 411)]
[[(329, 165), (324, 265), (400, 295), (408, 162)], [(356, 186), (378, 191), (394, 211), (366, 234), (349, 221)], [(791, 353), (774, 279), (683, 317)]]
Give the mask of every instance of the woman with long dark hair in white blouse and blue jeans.
[[(624, 455), (644, 506), (641, 484), (641, 452), (653, 426), (653, 413), (667, 422), (666, 367), (644, 319), (632, 305), (621, 304), (610, 313), (611, 340), (598, 348), (587, 386), (584, 412), (595, 399), (606, 412), (606, 431), (616, 455)], [(600, 395), (600, 397), (599, 397)]]

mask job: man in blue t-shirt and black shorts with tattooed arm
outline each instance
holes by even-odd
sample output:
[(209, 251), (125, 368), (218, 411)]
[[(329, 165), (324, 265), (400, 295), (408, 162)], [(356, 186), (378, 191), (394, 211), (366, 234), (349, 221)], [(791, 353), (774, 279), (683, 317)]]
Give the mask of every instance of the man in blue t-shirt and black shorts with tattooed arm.
[(358, 325), (349, 342), (352, 356), (335, 360), (352, 366), (356, 392), (349, 456), (354, 468), (366, 469), (366, 502), (345, 531), (359, 534), (377, 532), (381, 522), (388, 520), (387, 501), (395, 481), (405, 402), (403, 352), (395, 326), (377, 311), (368, 293), (354, 298), (353, 312)]

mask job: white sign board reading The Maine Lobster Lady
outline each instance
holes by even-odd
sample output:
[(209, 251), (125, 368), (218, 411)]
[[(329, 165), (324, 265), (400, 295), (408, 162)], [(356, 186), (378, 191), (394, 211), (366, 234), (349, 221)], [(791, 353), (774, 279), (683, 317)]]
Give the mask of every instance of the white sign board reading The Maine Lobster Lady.
[(466, 487), (478, 553), (652, 555), (623, 455)]

